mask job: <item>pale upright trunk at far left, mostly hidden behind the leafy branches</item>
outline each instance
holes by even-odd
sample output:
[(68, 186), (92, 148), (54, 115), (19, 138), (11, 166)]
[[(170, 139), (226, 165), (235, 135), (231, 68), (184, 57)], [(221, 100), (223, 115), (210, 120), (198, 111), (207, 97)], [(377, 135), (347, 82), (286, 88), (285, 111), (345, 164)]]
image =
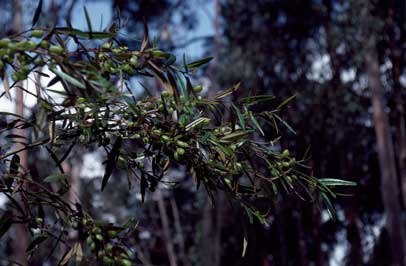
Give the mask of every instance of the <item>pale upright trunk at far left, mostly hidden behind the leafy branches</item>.
[[(20, 0), (14, 0), (14, 21), (13, 21), (13, 30), (15, 32), (23, 31), (23, 15), (22, 15), (22, 6)], [(16, 66), (19, 65), (18, 61), (15, 60)], [(23, 82), (18, 82), (16, 84), (16, 98), (15, 98), (15, 111), (18, 115), (24, 116), (24, 92), (21, 89), (23, 87)], [(25, 130), (18, 128), (15, 130), (17, 135), (25, 137)], [(24, 145), (21, 143), (16, 144), (16, 149), (24, 148)], [(23, 169), (28, 169), (28, 153), (27, 150), (23, 150), (18, 153), (20, 156), (20, 165)], [(28, 265), (26, 249), (28, 246), (28, 231), (24, 224), (17, 224), (15, 227), (15, 236), (13, 239), (13, 253), (14, 259), (19, 262), (21, 265)]]

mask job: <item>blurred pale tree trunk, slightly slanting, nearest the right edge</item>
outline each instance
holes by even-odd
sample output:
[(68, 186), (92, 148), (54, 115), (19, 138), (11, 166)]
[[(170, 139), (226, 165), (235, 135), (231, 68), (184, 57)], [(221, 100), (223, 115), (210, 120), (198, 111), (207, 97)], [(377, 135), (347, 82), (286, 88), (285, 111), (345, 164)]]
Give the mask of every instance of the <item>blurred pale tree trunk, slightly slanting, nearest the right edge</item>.
[(377, 138), (379, 166), (381, 171), (381, 193), (386, 215), (386, 229), (390, 238), (392, 262), (395, 266), (403, 266), (404, 248), (403, 228), (401, 223), (401, 208), (399, 187), (396, 174), (395, 153), (390, 132), (385, 104), (380, 82), (378, 56), (375, 49), (373, 34), (368, 38), (365, 65), (368, 75), (368, 85), (371, 91), (373, 120)]

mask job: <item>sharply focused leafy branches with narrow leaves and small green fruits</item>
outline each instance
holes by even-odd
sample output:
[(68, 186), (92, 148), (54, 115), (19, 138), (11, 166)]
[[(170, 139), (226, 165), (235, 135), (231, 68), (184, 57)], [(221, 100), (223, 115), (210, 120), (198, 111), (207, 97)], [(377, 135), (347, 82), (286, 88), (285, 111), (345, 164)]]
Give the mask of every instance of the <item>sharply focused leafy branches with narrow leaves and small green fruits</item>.
[[(52, 242), (55, 247), (70, 247), (61, 258), (62, 265), (72, 258), (79, 262), (92, 257), (105, 264), (131, 265), (134, 254), (129, 254), (126, 242), (137, 227), (135, 220), (130, 218), (123, 225), (97, 221), (81, 204), (64, 197), (69, 177), (62, 163), (77, 147), (100, 147), (106, 152), (101, 190), (112, 183), (114, 171), (121, 169), (127, 173), (129, 187), (134, 182), (139, 185), (144, 200), (145, 193), (159, 184), (176, 185), (165, 174), (185, 166), (197, 189), (202, 185), (210, 198), (223, 191), (246, 210), (251, 222), (254, 217), (264, 222), (267, 213), (255, 205), (257, 199), (294, 193), (313, 201), (320, 192), (332, 208), (330, 198), (335, 194), (330, 187), (352, 185), (313, 177), (302, 159), (291, 157), (288, 150), (278, 151), (279, 137), (265, 135), (265, 126), (287, 125), (278, 115), (287, 102), (260, 112), (257, 104), (274, 101), (273, 97), (257, 95), (228, 102), (227, 96), (239, 84), (214, 97), (201, 97), (202, 87), (193, 85), (192, 77), (210, 58), (177, 64), (174, 55), (149, 42), (146, 27), (138, 50), (119, 43), (115, 30), (92, 31), (89, 22), (88, 32), (56, 27), (3, 38), (0, 55), (4, 97), (13, 89), (25, 90), (19, 81), (30, 73), (47, 76), (41, 69), (48, 67), (55, 74), (47, 86), (38, 84), (36, 119), (2, 113), (8, 123), (1, 134), (8, 143), (0, 160), (10, 161), (10, 166), (1, 173), (0, 191), (10, 204), (2, 214), (0, 233), (4, 235), (13, 224), (25, 224), (32, 234), (28, 253)], [(156, 81), (162, 93), (139, 99), (130, 88), (133, 77)], [(64, 91), (52, 89), (58, 82)], [(148, 90), (146, 83), (142, 85)], [(51, 92), (63, 95), (64, 101), (58, 102)], [(222, 110), (229, 110), (229, 117)], [(16, 128), (33, 132), (29, 143), (13, 133)], [(45, 149), (58, 173), (34, 180), (20, 167), (19, 150), (10, 151), (15, 143), (22, 143), (23, 149)], [(49, 210), (53, 215), (46, 216)], [(66, 240), (70, 231), (78, 233), (72, 245)]]

